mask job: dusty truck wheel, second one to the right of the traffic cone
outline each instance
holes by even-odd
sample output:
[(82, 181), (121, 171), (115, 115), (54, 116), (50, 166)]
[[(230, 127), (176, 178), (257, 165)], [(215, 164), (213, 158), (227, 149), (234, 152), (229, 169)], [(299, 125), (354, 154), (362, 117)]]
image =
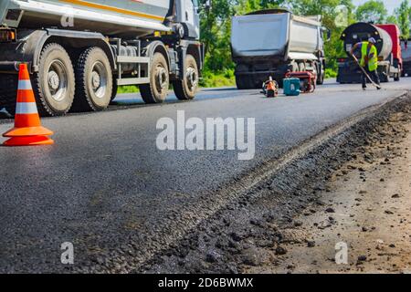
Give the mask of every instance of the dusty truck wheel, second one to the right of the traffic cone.
[(112, 96), (111, 64), (100, 47), (90, 47), (80, 54), (76, 66), (74, 111), (105, 110)]

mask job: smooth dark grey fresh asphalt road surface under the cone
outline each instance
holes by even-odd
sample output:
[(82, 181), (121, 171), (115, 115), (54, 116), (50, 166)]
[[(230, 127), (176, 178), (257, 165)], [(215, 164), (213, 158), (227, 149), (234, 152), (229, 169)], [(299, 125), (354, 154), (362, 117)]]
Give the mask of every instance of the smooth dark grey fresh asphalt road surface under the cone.
[[(198, 220), (205, 194), (212, 198), (258, 163), (411, 89), (410, 80), (380, 91), (329, 81), (314, 94), (277, 99), (205, 89), (193, 101), (171, 97), (163, 105), (127, 94), (111, 110), (43, 119), (55, 145), (0, 148), (0, 272), (70, 272), (104, 266), (109, 257), (143, 258), (162, 248), (163, 237), (184, 232), (174, 222)], [(255, 118), (254, 159), (239, 161), (238, 151), (227, 150), (159, 151), (156, 123), (176, 120), (177, 110), (186, 119)], [(0, 132), (11, 127), (5, 121)], [(64, 242), (74, 245), (72, 266), (60, 262)]]

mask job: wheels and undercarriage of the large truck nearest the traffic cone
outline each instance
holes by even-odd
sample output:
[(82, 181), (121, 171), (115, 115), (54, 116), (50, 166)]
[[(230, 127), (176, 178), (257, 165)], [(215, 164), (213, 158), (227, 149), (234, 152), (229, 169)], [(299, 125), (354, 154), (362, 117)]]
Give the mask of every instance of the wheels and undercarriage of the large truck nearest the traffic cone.
[(194, 99), (204, 62), (200, 42), (174, 33), (124, 40), (44, 28), (16, 36), (0, 44), (0, 109), (11, 114), (20, 63), (28, 64), (40, 114), (58, 116), (105, 110), (123, 85), (138, 85), (146, 103), (163, 102), (170, 84), (177, 99)]

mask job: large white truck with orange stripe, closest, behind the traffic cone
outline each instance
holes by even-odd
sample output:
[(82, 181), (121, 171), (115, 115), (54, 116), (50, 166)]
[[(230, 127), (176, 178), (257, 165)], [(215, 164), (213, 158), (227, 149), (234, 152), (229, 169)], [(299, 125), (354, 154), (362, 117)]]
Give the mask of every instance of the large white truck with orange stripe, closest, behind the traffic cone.
[(43, 116), (105, 110), (117, 87), (194, 99), (204, 63), (197, 0), (1, 0), (0, 110), (14, 114), (28, 65)]

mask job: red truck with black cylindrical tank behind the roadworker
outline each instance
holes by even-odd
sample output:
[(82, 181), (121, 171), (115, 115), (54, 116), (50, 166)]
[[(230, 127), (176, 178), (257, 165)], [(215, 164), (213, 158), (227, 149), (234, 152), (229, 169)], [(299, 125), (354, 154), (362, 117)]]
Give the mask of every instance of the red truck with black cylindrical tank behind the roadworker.
[[(372, 25), (368, 23), (356, 23), (348, 26), (342, 32), (344, 51), (348, 57), (338, 58), (339, 83), (361, 83), (361, 69), (350, 57), (350, 52), (356, 43), (368, 41), (370, 37), (376, 40), (375, 47), (378, 52), (378, 75), (382, 82), (388, 82), (389, 78), (399, 81), (403, 60), (401, 57), (400, 30), (395, 25)], [(361, 57), (361, 50), (353, 52), (355, 57)]]

